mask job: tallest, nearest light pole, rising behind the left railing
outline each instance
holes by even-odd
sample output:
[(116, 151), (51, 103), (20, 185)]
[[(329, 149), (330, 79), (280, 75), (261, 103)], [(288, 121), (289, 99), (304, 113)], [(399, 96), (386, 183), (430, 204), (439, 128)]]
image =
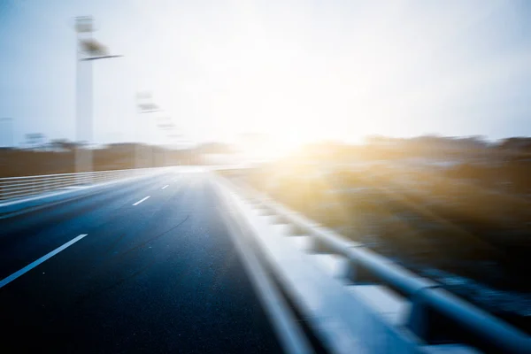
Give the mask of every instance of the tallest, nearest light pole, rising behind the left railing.
[[(90, 172), (93, 170), (92, 150), (88, 146), (87, 149), (81, 149), (82, 136), (86, 136), (87, 142), (92, 142), (92, 61), (109, 58), (119, 58), (121, 56), (109, 55), (107, 48), (100, 42), (96, 42), (92, 38), (94, 32), (94, 21), (91, 16), (82, 16), (75, 19), (76, 31), (76, 119), (75, 119), (75, 172)], [(88, 89), (89, 102), (86, 107), (87, 116), (83, 119), (81, 114), (81, 94), (80, 94), (80, 71), (81, 62), (89, 61), (87, 63), (88, 82), (86, 88)], [(83, 124), (85, 123), (85, 124)]]

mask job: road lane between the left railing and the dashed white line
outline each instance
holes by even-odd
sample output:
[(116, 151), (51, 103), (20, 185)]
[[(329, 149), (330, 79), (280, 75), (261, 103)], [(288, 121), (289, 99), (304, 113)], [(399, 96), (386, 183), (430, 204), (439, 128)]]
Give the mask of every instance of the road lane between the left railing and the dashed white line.
[(0, 279), (68, 242), (78, 230), (104, 225), (120, 207), (157, 190), (160, 183), (179, 179), (179, 174), (165, 173), (125, 181), (50, 208), (0, 219)]

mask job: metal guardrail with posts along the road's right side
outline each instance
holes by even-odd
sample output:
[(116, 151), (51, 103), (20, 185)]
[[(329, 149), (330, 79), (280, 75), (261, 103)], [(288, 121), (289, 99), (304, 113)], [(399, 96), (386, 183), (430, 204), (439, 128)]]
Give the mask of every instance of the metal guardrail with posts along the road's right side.
[(313, 246), (309, 251), (346, 258), (349, 271), (343, 281), (351, 285), (384, 285), (407, 298), (412, 303), (412, 311), (404, 327), (422, 341), (461, 342), (485, 352), (531, 353), (529, 335), (454, 296), (435, 281), (396, 265), (388, 258), (367, 250), (361, 243), (351, 242), (320, 227), (257, 190), (236, 188), (242, 191), (248, 202), (259, 206), (266, 214), (276, 216), (278, 222), (289, 224), (293, 235), (312, 236)]

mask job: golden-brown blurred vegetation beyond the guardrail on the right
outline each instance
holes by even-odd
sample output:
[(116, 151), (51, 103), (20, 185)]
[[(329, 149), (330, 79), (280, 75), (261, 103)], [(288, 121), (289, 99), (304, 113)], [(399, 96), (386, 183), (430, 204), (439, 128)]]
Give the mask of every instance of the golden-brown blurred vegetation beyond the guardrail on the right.
[(407, 143), (311, 147), (232, 176), (531, 332), (529, 152)]

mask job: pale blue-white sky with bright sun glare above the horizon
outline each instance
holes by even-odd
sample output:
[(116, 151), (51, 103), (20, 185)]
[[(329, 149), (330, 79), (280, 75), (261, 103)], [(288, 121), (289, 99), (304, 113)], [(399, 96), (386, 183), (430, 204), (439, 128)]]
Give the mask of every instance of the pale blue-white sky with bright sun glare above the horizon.
[(96, 142), (135, 139), (143, 90), (194, 141), (531, 135), (524, 0), (0, 0), (0, 117), (17, 142), (74, 138), (82, 15), (124, 55), (93, 63)]

